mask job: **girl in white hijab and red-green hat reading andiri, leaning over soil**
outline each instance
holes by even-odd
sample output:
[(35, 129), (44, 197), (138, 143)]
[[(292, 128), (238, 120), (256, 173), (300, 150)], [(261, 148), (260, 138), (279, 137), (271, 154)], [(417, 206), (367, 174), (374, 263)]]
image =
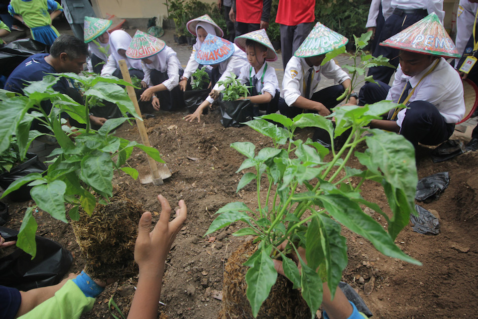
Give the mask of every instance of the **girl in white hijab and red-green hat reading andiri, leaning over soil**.
[(176, 52), (166, 43), (139, 30), (129, 44), (126, 56), (134, 61), (141, 59), (143, 81), (148, 88), (140, 95), (143, 102), (151, 101), (156, 111), (173, 111), (184, 106), (178, 87), (182, 72)]

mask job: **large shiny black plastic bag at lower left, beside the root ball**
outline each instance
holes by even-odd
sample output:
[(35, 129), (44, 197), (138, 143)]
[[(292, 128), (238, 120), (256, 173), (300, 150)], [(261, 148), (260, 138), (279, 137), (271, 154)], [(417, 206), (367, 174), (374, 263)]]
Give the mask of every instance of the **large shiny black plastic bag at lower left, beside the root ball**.
[[(1, 237), (16, 240), (18, 232), (0, 226)], [(70, 269), (71, 253), (53, 240), (35, 236), (36, 256), (16, 249), (0, 258), (0, 285), (27, 291), (58, 284)]]

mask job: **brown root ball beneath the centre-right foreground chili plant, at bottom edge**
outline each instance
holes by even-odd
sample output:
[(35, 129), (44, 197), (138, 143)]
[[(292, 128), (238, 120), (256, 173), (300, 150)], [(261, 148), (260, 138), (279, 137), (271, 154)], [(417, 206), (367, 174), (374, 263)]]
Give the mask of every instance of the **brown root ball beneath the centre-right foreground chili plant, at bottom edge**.
[[(255, 252), (257, 244), (252, 240), (236, 250), (224, 270), (223, 301), (219, 319), (253, 319), (249, 301), (246, 297), (245, 274), (249, 267), (242, 264)], [(299, 290), (292, 289), (292, 283), (278, 275), (269, 297), (260, 307), (259, 319), (310, 319), (310, 310)]]

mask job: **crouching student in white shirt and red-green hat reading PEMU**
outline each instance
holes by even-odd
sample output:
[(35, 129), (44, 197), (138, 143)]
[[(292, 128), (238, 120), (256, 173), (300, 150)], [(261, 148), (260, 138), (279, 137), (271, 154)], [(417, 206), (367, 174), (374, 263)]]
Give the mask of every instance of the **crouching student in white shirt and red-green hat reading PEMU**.
[(400, 65), (391, 87), (380, 81), (364, 85), (360, 105), (390, 100), (407, 108), (372, 120), (370, 127), (400, 133), (415, 146), (448, 140), (465, 114), (465, 100), (460, 75), (443, 58), (460, 55), (437, 15), (429, 14), (380, 45), (399, 48)]

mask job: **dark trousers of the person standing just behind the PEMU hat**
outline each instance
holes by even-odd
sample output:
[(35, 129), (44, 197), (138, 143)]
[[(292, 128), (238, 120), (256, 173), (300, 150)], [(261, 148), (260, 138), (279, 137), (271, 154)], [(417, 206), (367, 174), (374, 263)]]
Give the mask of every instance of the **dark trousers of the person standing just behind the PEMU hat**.
[[(425, 10), (426, 11), (426, 10)], [(385, 20), (385, 24), (379, 35), (378, 43), (385, 41), (392, 35), (397, 34), (398, 32), (406, 29), (413, 23), (421, 20), (427, 14), (426, 13), (416, 13), (416, 14), (392, 14)], [(375, 35), (377, 36), (377, 35)], [(368, 70), (368, 75), (373, 75), (373, 79), (375, 81), (379, 80), (384, 83), (389, 83), (390, 78), (398, 67), (398, 49), (392, 49), (387, 46), (378, 45), (376, 46), (375, 50), (373, 51), (373, 56), (377, 57), (379, 55), (383, 55), (390, 59), (390, 64), (392, 64), (395, 68), (390, 68), (387, 66), (374, 66)]]

